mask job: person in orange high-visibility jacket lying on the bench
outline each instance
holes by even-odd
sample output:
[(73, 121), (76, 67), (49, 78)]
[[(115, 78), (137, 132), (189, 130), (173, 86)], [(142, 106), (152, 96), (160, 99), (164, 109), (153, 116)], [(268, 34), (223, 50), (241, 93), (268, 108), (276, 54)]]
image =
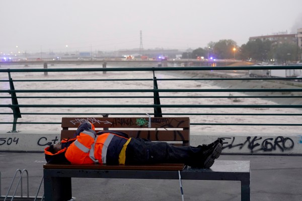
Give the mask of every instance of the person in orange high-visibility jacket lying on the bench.
[(210, 168), (222, 150), (222, 140), (208, 145), (173, 146), (166, 142), (150, 142), (129, 138), (118, 131), (95, 132), (90, 122), (82, 123), (72, 139), (45, 148), (47, 163), (138, 165), (184, 163), (191, 167)]

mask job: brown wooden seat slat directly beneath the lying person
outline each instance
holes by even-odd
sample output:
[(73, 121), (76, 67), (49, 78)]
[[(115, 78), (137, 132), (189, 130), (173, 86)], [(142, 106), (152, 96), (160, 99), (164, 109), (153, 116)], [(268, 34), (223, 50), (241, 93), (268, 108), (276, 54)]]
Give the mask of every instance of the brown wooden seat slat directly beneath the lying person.
[(149, 164), (149, 165), (105, 165), (105, 164), (45, 164), (45, 169), (100, 169), (100, 170), (183, 170), (184, 164), (165, 163), (165, 164)]

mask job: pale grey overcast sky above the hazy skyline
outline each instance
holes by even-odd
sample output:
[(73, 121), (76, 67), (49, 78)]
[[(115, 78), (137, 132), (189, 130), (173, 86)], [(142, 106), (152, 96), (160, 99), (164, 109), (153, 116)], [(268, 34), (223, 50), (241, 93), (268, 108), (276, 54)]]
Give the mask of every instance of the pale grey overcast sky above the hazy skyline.
[[(302, 28), (302, 0), (2, 0), (0, 52), (196, 49)], [(66, 47), (66, 45), (68, 47)], [(16, 47), (18, 46), (18, 48)]]

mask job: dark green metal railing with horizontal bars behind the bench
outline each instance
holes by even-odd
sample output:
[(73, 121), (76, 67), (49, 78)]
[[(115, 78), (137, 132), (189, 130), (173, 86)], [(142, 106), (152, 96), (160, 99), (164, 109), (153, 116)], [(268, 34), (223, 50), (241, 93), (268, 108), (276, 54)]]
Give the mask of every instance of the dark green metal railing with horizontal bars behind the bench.
[[(0, 124), (13, 125), (11, 132), (18, 132), (17, 125), (39, 130), (60, 124), (63, 116), (151, 115), (189, 116), (197, 130), (215, 131), (217, 126), (222, 131), (233, 126), (243, 131), (246, 126), (297, 130), (302, 126), (302, 78), (296, 77), (301, 69), (301, 65), (0, 69)], [(276, 70), (290, 76), (275, 77)]]

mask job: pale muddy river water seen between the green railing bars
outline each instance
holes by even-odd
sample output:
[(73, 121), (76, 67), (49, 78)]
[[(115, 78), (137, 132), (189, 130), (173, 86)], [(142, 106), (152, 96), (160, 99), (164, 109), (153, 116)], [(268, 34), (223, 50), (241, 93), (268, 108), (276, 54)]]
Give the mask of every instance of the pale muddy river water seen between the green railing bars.
[[(49, 66), (49, 68), (95, 68), (97, 66)], [(108, 66), (110, 67), (110, 66)], [(11, 68), (24, 68), (22, 66), (11, 66)], [(41, 66), (30, 66), (30, 68), (41, 68)], [(156, 72), (157, 78), (175, 78), (175, 76), (181, 76), (181, 74), (171, 75), (164, 72)], [(48, 76), (44, 76), (43, 72), (30, 72), (30, 73), (12, 73), (13, 80), (20, 79), (122, 79), (122, 78), (153, 78), (152, 72), (49, 72)], [(1, 80), (7, 80), (7, 73), (0, 73)], [(152, 89), (153, 81), (68, 81), (68, 82), (54, 82), (54, 81), (41, 81), (41, 82), (14, 82), (15, 89)], [(174, 88), (174, 89), (203, 89), (203, 88), (218, 88), (217, 86), (211, 85), (208, 81), (164, 81), (159, 80), (158, 86), (160, 89)], [(10, 89), (8, 82), (0, 82), (1, 89)], [(276, 103), (268, 100), (259, 98), (239, 98), (239, 102), (234, 102), (232, 98), (190, 98), (189, 96), (194, 95), (240, 95), (236, 92), (225, 92), (223, 93), (186, 93), (186, 92), (172, 92), (172, 93), (160, 93), (160, 96), (164, 95), (185, 95), (187, 98), (161, 98), (161, 104), (166, 105), (274, 105)], [(1, 96), (8, 96), (10, 94), (0, 93)], [(17, 93), (17, 96), (28, 96), (28, 93)], [(70, 93), (32, 93), (31, 96), (67, 96)], [(73, 96), (76, 94), (72, 94)], [(112, 96), (112, 95), (146, 95), (153, 96), (153, 93), (81, 93), (79, 95), (87, 96)], [(242, 95), (242, 94), (241, 94)], [(0, 102), (3, 105), (12, 104), (11, 98), (0, 98)], [(153, 105), (153, 98), (18, 98), (20, 105), (27, 104), (41, 104), (41, 105), (85, 105), (85, 104), (145, 104)], [(12, 110), (9, 108), (2, 108), (2, 112), (11, 113)], [(21, 113), (98, 113), (98, 114), (111, 114), (111, 113), (153, 113), (152, 108), (20, 108)], [(297, 109), (270, 109), (270, 108), (250, 108), (250, 109), (230, 109), (230, 108), (163, 108), (163, 113), (300, 113)], [(71, 117), (70, 115), (22, 115), (22, 118), (18, 119), (18, 122), (60, 122), (61, 117)], [(79, 115), (78, 115), (79, 116)], [(270, 116), (189, 116), (191, 123), (292, 123), (300, 124), (301, 117), (292, 116), (276, 116), (271, 118)], [(287, 119), (287, 120), (286, 120)], [(290, 122), (288, 122), (290, 119)], [(0, 122), (13, 122), (13, 115), (1, 115)], [(17, 125), (17, 130), (48, 130), (48, 131), (59, 131), (61, 128), (59, 125)], [(10, 131), (12, 125), (2, 125), (1, 130)], [(298, 132), (297, 127), (279, 127), (279, 126), (192, 126), (191, 131), (202, 131), (202, 132), (239, 132), (239, 133), (294, 133)], [(284, 135), (284, 134), (283, 134)]]

